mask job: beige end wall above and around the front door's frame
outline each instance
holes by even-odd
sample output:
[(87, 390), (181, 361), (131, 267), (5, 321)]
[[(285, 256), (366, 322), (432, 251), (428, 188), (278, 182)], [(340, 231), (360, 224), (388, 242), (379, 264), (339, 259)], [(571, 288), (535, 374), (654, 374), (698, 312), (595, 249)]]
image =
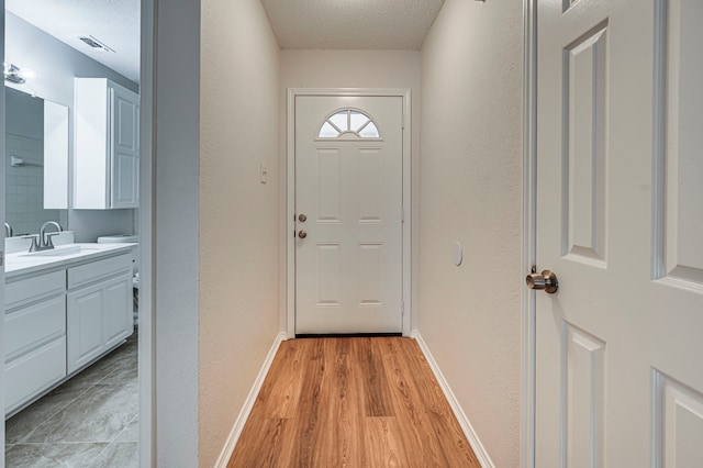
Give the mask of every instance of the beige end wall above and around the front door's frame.
[[(420, 154), (420, 52), (416, 51), (281, 51), (281, 170), (286, 168), (286, 118), (288, 88), (394, 88), (411, 90), (411, 159), (413, 187), (419, 186)], [(286, 186), (281, 185), (281, 209), (286, 209)], [(415, 194), (412, 194), (416, 200)], [(412, 202), (416, 207), (416, 202)], [(417, 231), (413, 208), (413, 231)], [(286, 237), (281, 238), (284, 245)], [(416, 245), (413, 245), (415, 249)], [(417, 255), (413, 254), (413, 259)], [(416, 270), (416, 261), (413, 261)], [(281, 278), (286, 286), (286, 277)], [(414, 291), (413, 291), (414, 292)], [(413, 302), (416, 299), (413, 298)], [(281, 310), (284, 309), (281, 308)], [(411, 327), (416, 324), (413, 315)], [(284, 323), (283, 321), (281, 323)]]

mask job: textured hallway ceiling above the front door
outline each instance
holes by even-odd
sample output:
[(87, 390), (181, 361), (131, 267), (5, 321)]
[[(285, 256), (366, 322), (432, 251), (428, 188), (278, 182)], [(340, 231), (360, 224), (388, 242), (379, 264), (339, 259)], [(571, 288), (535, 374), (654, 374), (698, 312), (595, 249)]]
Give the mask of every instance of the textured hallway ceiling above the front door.
[(420, 49), (444, 0), (261, 0), (281, 48)]

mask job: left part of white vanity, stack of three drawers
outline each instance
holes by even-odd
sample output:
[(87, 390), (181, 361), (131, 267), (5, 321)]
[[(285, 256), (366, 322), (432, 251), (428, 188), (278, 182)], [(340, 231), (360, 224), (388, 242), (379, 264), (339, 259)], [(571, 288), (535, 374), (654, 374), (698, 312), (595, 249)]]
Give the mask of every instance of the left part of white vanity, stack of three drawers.
[(5, 285), (5, 414), (66, 377), (65, 291), (64, 269)]

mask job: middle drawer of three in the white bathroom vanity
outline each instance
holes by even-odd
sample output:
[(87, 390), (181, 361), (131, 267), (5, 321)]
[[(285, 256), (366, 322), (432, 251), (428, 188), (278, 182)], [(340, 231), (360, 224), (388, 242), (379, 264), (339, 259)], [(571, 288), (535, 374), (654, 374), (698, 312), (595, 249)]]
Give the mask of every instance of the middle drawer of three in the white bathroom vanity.
[(4, 316), (4, 360), (9, 361), (66, 334), (66, 297), (18, 309)]

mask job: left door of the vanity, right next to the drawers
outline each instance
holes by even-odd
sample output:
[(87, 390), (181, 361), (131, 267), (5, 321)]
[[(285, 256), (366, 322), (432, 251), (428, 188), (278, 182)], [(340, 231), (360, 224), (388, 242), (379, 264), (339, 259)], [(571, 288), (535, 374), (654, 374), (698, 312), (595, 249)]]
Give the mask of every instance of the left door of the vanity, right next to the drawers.
[(68, 374), (90, 363), (104, 349), (104, 296), (102, 285), (67, 294)]

